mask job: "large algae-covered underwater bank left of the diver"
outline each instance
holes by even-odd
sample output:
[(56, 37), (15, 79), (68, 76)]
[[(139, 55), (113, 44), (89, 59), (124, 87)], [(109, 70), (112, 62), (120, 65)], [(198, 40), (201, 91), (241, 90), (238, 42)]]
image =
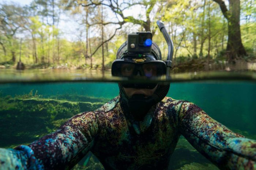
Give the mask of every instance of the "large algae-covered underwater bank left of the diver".
[(31, 143), (56, 131), (72, 116), (95, 110), (105, 104), (91, 102), (90, 97), (87, 97), (87, 102), (41, 97), (37, 92), (33, 94), (33, 90), (29, 94), (17, 95), (14, 98), (0, 97), (0, 147)]

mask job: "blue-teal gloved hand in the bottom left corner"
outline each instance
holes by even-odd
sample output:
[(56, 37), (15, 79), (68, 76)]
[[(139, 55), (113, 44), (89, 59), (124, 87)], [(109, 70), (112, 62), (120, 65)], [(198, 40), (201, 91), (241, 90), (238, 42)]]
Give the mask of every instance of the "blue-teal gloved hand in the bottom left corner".
[(43, 170), (30, 147), (0, 148), (0, 170)]

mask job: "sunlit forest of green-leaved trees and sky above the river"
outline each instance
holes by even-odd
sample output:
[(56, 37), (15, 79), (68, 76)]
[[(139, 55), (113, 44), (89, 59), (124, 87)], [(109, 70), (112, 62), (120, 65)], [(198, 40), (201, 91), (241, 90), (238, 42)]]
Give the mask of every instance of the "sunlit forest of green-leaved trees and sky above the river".
[(109, 69), (138, 31), (151, 31), (166, 59), (157, 20), (174, 42), (174, 66), (255, 61), (254, 0), (33, 0), (0, 3), (0, 67)]

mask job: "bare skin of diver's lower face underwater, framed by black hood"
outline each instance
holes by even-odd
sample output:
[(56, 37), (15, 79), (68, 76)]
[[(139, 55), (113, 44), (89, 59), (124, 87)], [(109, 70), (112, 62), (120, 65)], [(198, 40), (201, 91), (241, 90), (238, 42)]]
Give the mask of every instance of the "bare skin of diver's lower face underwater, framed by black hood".
[(124, 91), (125, 94), (131, 98), (134, 94), (144, 94), (145, 98), (151, 96), (154, 94), (155, 90), (157, 89), (157, 86), (153, 89), (147, 89), (147, 88), (125, 88)]

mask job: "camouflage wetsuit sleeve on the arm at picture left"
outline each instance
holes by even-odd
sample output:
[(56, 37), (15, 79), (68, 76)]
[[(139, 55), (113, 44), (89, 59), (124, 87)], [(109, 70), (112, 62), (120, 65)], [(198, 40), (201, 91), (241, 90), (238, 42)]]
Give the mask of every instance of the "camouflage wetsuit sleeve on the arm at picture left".
[(29, 146), (0, 150), (0, 170), (68, 170), (93, 146), (99, 131), (94, 112), (78, 114), (56, 132), (46, 135)]

